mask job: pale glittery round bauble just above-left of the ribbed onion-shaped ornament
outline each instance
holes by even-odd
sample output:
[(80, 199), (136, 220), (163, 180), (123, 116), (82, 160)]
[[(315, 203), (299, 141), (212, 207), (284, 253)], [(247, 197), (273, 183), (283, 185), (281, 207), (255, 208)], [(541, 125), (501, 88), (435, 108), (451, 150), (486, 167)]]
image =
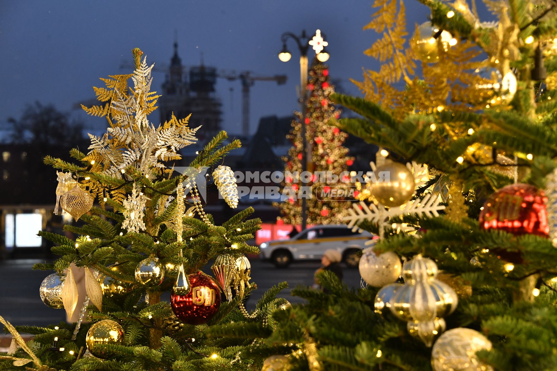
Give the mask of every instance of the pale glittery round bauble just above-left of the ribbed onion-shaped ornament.
[(361, 278), (374, 287), (383, 287), (393, 283), (400, 276), (402, 263), (397, 254), (387, 251), (379, 256), (373, 247), (365, 249), (358, 264)]

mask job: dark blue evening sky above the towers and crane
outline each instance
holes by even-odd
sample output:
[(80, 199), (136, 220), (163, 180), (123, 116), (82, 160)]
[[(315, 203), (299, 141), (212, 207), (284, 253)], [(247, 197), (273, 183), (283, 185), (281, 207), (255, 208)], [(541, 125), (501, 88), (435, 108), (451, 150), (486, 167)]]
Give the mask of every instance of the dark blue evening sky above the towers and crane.
[[(407, 23), (427, 20), (428, 9), (407, 0)], [(280, 36), (284, 31), (309, 33), (320, 28), (329, 41), (331, 78), (340, 78), (345, 91), (358, 93), (348, 80), (361, 78), (361, 68), (377, 68), (363, 51), (377, 39), (362, 31), (373, 13), (363, 0), (266, 1), (2, 1), (0, 2), (0, 122), (19, 117), (26, 103), (53, 103), (70, 111), (75, 103), (94, 97), (99, 77), (128, 73), (119, 69), (131, 61), (139, 47), (148, 62), (168, 64), (174, 33), (184, 65), (198, 65), (203, 52), (206, 65), (219, 69), (250, 70), (261, 75), (286, 74), (286, 85), (256, 82), (251, 90), (251, 130), (265, 115), (289, 115), (297, 107), (295, 87), (299, 64), (294, 43), (292, 60), (280, 62)], [(160, 89), (163, 73), (154, 74)], [(232, 93), (229, 88), (233, 87)], [(223, 103), (223, 128), (241, 130), (240, 82), (218, 80)], [(87, 125), (84, 112), (74, 115)], [(152, 115), (153, 116), (153, 115)], [(156, 116), (156, 115), (155, 115)], [(158, 119), (158, 116), (152, 117)], [(155, 124), (158, 122), (155, 122)]]

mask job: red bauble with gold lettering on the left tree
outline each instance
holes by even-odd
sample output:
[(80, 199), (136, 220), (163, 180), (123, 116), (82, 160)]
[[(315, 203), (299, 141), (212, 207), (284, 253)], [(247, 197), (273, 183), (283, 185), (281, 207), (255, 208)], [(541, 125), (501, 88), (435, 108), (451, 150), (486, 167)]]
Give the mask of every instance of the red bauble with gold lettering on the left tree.
[(202, 271), (188, 275), (192, 289), (187, 295), (170, 295), (172, 311), (189, 325), (206, 323), (221, 306), (221, 290), (211, 277)]

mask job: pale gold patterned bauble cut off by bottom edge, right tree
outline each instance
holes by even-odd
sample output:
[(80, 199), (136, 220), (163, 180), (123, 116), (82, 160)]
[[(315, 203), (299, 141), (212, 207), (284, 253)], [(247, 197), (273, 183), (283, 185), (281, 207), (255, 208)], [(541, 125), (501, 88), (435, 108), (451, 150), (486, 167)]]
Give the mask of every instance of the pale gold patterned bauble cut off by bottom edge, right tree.
[(462, 327), (448, 330), (433, 345), (431, 365), (434, 371), (493, 371), (476, 355), (479, 350), (491, 347), (490, 340), (476, 330)]

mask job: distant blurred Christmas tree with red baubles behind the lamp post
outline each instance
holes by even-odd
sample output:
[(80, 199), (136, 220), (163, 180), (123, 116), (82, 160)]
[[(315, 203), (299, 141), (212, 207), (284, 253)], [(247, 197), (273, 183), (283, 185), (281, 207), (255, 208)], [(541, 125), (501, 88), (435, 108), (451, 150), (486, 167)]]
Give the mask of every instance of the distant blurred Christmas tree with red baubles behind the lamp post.
[[(288, 196), (280, 207), (281, 220), (285, 224), (300, 225), (302, 221), (302, 198), (307, 202), (307, 224), (330, 224), (339, 222), (336, 216), (350, 206), (344, 200), (353, 195), (350, 189), (348, 166), (354, 159), (348, 157), (348, 149), (343, 147), (346, 133), (327, 124), (331, 118), (338, 118), (329, 96), (334, 86), (329, 80), (329, 68), (315, 58), (307, 81), (309, 96), (306, 100), (306, 114), (292, 121), (288, 138), (294, 144), (284, 157), (285, 182), (282, 194)], [(302, 151), (304, 150), (301, 126), (306, 126), (307, 176), (302, 171)], [(350, 194), (350, 190), (352, 193)]]

